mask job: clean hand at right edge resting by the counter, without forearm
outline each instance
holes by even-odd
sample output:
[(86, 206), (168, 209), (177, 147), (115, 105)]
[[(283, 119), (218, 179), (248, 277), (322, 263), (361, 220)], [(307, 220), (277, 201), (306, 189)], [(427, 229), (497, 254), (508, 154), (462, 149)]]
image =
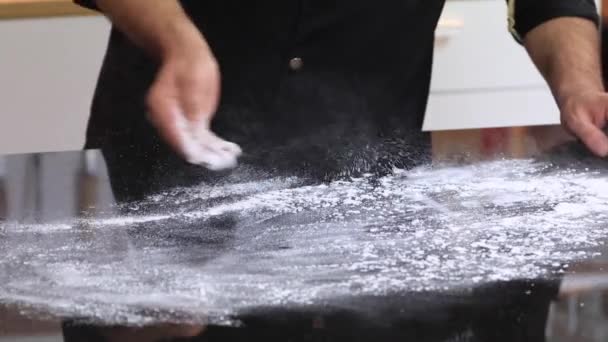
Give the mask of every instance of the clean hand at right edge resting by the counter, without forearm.
[(608, 119), (608, 94), (582, 91), (564, 97), (561, 105), (562, 124), (596, 155), (608, 156), (608, 137), (603, 132)]

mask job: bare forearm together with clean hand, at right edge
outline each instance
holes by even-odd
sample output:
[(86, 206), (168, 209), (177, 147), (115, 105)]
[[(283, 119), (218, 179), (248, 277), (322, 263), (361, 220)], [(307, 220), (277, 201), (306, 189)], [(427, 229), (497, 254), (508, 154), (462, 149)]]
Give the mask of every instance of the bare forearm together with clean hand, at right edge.
[(608, 121), (608, 95), (597, 27), (586, 19), (553, 19), (530, 31), (525, 45), (553, 91), (562, 125), (606, 157), (608, 137), (602, 128)]

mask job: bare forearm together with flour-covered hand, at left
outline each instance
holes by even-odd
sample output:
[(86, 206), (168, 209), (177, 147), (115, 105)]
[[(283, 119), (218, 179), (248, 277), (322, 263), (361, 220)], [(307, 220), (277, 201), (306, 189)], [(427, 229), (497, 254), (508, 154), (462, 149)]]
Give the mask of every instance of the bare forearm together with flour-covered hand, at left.
[(97, 0), (133, 42), (161, 61), (149, 119), (186, 160), (212, 170), (236, 166), (240, 148), (211, 132), (220, 96), (218, 64), (177, 0)]

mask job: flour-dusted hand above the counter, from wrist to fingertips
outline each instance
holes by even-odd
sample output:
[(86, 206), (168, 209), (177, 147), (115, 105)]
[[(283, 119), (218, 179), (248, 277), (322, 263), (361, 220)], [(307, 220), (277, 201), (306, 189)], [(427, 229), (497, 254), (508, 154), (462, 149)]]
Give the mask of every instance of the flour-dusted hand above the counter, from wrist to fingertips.
[(184, 48), (164, 57), (148, 95), (149, 119), (188, 162), (210, 170), (235, 167), (239, 146), (210, 130), (220, 97), (218, 64), (206, 44)]

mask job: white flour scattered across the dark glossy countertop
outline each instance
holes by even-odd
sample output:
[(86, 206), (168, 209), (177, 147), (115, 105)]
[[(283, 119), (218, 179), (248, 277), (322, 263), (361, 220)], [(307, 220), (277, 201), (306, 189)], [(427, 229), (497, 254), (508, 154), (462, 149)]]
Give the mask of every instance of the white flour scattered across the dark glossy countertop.
[(64, 229), (6, 224), (0, 301), (143, 324), (554, 277), (602, 253), (607, 173), (518, 160), (277, 178), (175, 189)]

